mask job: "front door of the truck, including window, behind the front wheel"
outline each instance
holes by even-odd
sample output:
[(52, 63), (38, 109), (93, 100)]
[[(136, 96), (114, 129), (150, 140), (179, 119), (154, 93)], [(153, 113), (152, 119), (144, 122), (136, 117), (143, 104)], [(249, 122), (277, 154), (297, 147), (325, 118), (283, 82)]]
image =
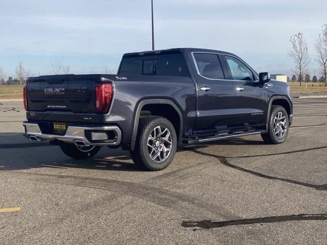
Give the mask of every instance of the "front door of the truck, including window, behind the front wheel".
[(258, 77), (243, 61), (230, 55), (221, 55), (229, 79), (235, 89), (235, 126), (262, 126), (265, 124), (266, 90), (259, 83)]

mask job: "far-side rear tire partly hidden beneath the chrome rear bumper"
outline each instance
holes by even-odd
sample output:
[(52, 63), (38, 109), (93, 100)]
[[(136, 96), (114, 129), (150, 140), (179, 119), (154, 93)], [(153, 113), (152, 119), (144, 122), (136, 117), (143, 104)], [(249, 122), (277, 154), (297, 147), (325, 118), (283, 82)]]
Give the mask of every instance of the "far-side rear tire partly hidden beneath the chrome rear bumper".
[(90, 145), (90, 146), (76, 146), (75, 144), (61, 144), (60, 149), (68, 157), (74, 159), (86, 159), (93, 157), (100, 151), (101, 146)]

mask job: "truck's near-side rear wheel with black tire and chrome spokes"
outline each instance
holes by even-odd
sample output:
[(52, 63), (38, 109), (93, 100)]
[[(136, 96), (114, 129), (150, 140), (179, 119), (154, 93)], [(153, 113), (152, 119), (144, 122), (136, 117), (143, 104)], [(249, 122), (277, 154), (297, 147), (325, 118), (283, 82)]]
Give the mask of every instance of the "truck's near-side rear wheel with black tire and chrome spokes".
[[(153, 132), (155, 133), (155, 129), (158, 127), (162, 127), (162, 129), (168, 129), (168, 132), (170, 132), (170, 142), (171, 144), (165, 142), (164, 140), (161, 140), (159, 137), (159, 134), (156, 139), (158, 139), (158, 142), (160, 141), (162, 144), (167, 144), (169, 148), (171, 148), (169, 154), (164, 152), (162, 150), (159, 150), (159, 155), (157, 158), (152, 159), (150, 157), (150, 154), (152, 153), (152, 150), (154, 148), (152, 146), (148, 146), (148, 140), (150, 135), (152, 136)], [(160, 129), (161, 130), (161, 129)], [(161, 131), (162, 132), (162, 131)], [(167, 132), (167, 131), (166, 131)], [(167, 133), (166, 133), (167, 135)], [(159, 142), (159, 144), (160, 144)], [(153, 145), (155, 145), (155, 140), (153, 140)], [(156, 149), (161, 149), (161, 146), (158, 146)], [(171, 146), (171, 147), (170, 147)], [(136, 137), (136, 143), (135, 143), (135, 148), (134, 151), (130, 151), (131, 158), (133, 162), (141, 169), (145, 169), (148, 171), (157, 171), (157, 170), (162, 170), (172, 162), (175, 153), (176, 153), (176, 146), (177, 146), (177, 136), (176, 136), (176, 131), (174, 126), (171, 124), (171, 122), (161, 116), (146, 116), (139, 120), (139, 125), (138, 125), (138, 131), (137, 131), (137, 137)], [(164, 147), (164, 146), (162, 146)], [(165, 148), (166, 149), (166, 148)], [(166, 150), (165, 150), (166, 151)], [(161, 159), (161, 154), (162, 154), (162, 160)], [(167, 154), (167, 157), (165, 157), (165, 154)], [(152, 157), (156, 156), (156, 152), (152, 155)], [(158, 159), (159, 158), (159, 159)], [(162, 160), (162, 161), (160, 161)], [(158, 162), (160, 161), (160, 162)]]

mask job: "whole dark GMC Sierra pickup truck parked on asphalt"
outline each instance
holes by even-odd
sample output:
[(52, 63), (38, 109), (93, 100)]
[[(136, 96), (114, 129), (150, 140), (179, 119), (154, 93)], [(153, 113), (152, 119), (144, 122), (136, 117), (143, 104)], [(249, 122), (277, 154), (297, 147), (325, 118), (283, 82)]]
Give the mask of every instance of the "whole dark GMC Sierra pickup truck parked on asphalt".
[(31, 140), (75, 159), (121, 147), (147, 170), (166, 168), (186, 144), (256, 134), (282, 143), (292, 122), (287, 83), (200, 48), (124, 54), (116, 75), (31, 77), (24, 106)]

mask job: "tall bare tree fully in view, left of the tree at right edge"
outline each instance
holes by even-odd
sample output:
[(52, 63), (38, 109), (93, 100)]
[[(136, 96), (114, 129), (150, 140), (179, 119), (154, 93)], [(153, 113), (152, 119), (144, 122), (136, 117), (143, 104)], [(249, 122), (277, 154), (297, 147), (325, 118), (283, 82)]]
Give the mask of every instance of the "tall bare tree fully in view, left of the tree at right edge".
[[(290, 39), (291, 48), (287, 50), (289, 57), (291, 57), (295, 63), (294, 72), (299, 78), (303, 78), (303, 70), (305, 70), (309, 63), (308, 44), (302, 33), (293, 35)], [(300, 79), (300, 86), (302, 85), (302, 79)]]

